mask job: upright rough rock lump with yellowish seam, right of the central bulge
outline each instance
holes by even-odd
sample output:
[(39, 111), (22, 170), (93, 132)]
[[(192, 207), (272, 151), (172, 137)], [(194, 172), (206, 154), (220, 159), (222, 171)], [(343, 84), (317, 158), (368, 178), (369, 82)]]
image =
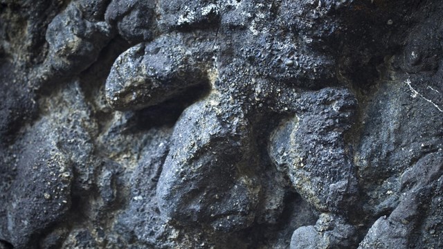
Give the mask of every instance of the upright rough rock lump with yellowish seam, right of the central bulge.
[(343, 213), (357, 194), (354, 165), (344, 141), (356, 100), (345, 89), (307, 92), (300, 113), (271, 136), (269, 153), (293, 187), (317, 210)]

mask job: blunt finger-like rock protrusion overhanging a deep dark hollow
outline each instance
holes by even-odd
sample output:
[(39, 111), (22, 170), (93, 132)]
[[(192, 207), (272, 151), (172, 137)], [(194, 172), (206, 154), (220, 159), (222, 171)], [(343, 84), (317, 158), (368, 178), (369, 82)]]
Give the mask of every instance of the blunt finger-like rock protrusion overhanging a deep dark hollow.
[(207, 84), (207, 45), (188, 47), (179, 35), (171, 35), (129, 48), (111, 68), (107, 101), (118, 110), (141, 109)]

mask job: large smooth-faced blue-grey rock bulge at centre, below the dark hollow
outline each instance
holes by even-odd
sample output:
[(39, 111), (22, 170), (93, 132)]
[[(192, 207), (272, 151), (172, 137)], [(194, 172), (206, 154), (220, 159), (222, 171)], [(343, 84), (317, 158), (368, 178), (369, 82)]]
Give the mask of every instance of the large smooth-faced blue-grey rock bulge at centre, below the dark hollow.
[(165, 219), (239, 230), (251, 225), (260, 184), (249, 169), (248, 122), (238, 109), (221, 112), (217, 99), (184, 111), (157, 186)]

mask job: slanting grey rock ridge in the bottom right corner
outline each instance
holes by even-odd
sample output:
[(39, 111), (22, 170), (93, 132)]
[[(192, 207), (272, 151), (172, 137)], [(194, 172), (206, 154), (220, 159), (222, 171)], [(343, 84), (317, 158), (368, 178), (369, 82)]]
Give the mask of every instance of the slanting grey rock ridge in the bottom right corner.
[(428, 154), (401, 176), (404, 192), (399, 205), (388, 217), (375, 221), (360, 243), (360, 249), (417, 248), (414, 232), (423, 222), (428, 208), (426, 203), (431, 203), (432, 193), (439, 191), (436, 189), (443, 181), (442, 158), (442, 151)]

